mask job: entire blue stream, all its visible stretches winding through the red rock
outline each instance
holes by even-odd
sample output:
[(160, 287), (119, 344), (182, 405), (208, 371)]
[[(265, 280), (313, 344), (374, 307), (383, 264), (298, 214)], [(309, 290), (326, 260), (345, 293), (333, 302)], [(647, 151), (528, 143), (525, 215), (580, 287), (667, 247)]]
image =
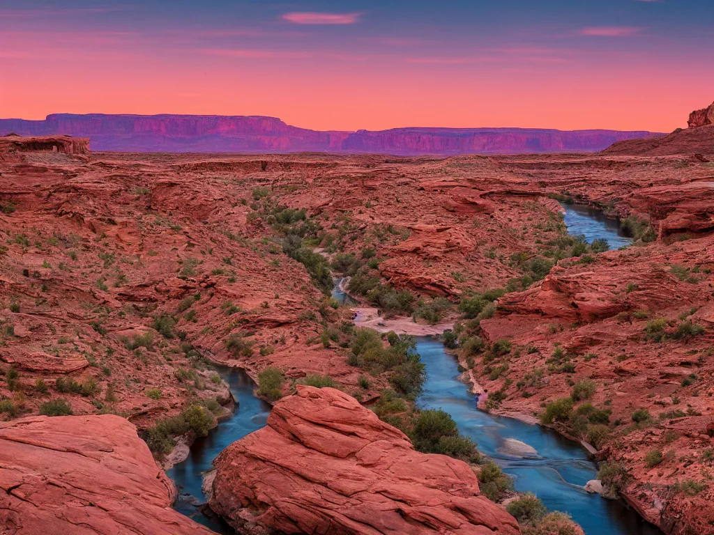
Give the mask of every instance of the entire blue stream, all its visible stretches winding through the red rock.
[[(620, 232), (616, 220), (605, 218), (588, 206), (568, 205), (566, 208), (568, 233), (585, 235), (588, 243), (605, 238), (610, 248), (631, 243)], [(339, 288), (339, 280), (332, 296), (343, 305), (354, 304)], [(586, 535), (661, 535), (661, 531), (645, 523), (622, 501), (603, 499), (583, 490), (588, 480), (595, 479), (597, 467), (588, 460), (580, 444), (545, 427), (479, 410), (476, 396), (458, 379), (456, 358), (447, 354), (441, 342), (431, 337), (417, 337), (416, 350), (426, 365), (426, 382), (417, 399), (418, 406), (422, 409), (441, 408), (451, 414), (459, 431), (471, 437), (483, 454), (513, 477), (517, 491), (533, 492), (548, 509), (567, 512), (583, 527)], [(178, 511), (217, 533), (229, 535), (233, 531), (227, 524), (206, 516), (197, 507), (206, 501), (201, 490), (203, 472), (211, 469), (213, 459), (229, 444), (263, 427), (271, 407), (253, 396), (255, 384), (242, 370), (222, 367), (218, 372), (231, 387), (236, 399), (235, 412), (212, 429), (208, 437), (197, 439), (188, 458), (166, 474), (178, 488), (179, 497), (174, 506)], [(506, 439), (524, 442), (538, 454), (512, 457), (502, 450)]]

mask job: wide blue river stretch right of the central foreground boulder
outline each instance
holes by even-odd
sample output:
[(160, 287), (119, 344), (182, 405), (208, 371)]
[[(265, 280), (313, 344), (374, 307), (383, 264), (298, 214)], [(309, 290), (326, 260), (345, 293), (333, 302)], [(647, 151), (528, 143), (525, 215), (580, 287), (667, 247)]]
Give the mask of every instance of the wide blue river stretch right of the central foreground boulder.
[[(517, 491), (533, 492), (548, 509), (569, 513), (586, 535), (661, 535), (621, 501), (606, 500), (581, 488), (595, 479), (597, 469), (580, 444), (544, 427), (478, 410), (476, 397), (458, 380), (456, 359), (444, 351), (443, 344), (428, 337), (416, 341), (426, 365), (419, 407), (450, 413), (459, 431), (513, 477)], [(538, 458), (515, 459), (499, 452), (505, 439), (525, 442), (535, 448)]]

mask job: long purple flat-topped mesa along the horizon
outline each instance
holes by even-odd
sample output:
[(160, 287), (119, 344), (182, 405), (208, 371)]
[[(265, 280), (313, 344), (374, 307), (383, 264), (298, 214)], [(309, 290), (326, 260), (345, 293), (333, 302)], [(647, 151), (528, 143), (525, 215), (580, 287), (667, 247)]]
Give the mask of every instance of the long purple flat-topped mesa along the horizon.
[(261, 116), (72, 115), (44, 121), (0, 119), (0, 135), (66, 134), (91, 139), (95, 151), (345, 152), (420, 154), (600, 151), (616, 141), (657, 136), (645, 131), (558, 131), (523, 128), (395, 128), (313, 131)]

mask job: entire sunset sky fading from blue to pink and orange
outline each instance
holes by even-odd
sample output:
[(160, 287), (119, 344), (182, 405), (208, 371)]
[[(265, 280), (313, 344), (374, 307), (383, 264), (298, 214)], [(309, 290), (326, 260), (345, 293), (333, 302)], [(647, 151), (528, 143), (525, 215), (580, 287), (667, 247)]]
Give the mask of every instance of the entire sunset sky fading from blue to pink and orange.
[(714, 0), (0, 0), (1, 118), (668, 132), (713, 65)]

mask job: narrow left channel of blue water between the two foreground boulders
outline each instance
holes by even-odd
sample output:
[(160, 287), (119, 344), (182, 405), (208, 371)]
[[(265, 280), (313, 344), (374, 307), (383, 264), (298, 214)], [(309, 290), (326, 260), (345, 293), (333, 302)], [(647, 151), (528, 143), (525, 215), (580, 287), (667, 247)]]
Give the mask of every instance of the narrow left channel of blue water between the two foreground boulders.
[(246, 372), (235, 368), (218, 368), (218, 372), (231, 387), (236, 399), (235, 412), (229, 419), (221, 420), (218, 427), (211, 429), (208, 437), (196, 439), (188, 459), (167, 470), (166, 474), (174, 480), (178, 488), (179, 498), (175, 509), (199, 524), (227, 535), (235, 533), (228, 524), (220, 519), (211, 519), (196, 509), (196, 504), (206, 501), (201, 490), (203, 472), (212, 468), (213, 459), (231, 443), (265, 427), (271, 406), (253, 396), (255, 383)]

